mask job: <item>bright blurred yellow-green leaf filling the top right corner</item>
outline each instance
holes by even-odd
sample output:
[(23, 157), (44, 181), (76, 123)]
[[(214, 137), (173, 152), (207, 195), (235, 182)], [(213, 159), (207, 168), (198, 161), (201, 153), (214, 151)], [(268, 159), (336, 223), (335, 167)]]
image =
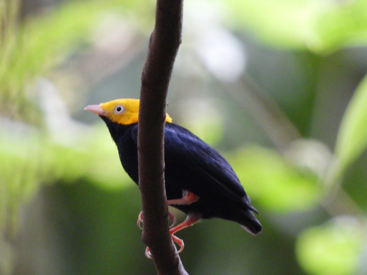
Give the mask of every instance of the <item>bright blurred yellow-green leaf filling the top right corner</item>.
[(229, 1), (230, 20), (283, 48), (314, 52), (367, 42), (367, 2), (319, 0)]

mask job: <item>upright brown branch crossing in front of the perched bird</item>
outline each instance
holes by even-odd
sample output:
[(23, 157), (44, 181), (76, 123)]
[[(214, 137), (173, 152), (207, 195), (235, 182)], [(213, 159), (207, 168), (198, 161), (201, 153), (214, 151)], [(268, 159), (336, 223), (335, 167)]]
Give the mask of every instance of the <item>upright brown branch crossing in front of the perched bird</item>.
[(187, 274), (168, 231), (164, 185), (164, 125), (167, 89), (181, 43), (182, 1), (157, 0), (140, 91), (138, 159), (144, 226), (158, 274)]

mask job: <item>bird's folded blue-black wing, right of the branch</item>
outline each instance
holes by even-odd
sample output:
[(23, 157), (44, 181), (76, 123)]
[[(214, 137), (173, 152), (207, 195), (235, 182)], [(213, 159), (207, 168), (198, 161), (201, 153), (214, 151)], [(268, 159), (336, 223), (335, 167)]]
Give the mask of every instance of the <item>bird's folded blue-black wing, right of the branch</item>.
[[(132, 130), (132, 136), (137, 142), (137, 126)], [(231, 199), (242, 200), (245, 197), (249, 200), (235, 171), (225, 158), (187, 129), (176, 124), (166, 124), (164, 144), (166, 167), (169, 159), (170, 163), (185, 166), (182, 170), (201, 175), (206, 188), (220, 191)]]

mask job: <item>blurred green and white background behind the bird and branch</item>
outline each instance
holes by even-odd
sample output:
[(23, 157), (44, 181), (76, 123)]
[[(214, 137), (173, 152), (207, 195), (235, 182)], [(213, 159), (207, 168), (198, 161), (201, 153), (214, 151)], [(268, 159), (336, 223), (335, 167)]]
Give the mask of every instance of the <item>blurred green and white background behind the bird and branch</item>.
[[(155, 274), (139, 190), (83, 111), (139, 97), (154, 14), (0, 1), (0, 274)], [(179, 232), (190, 274), (367, 274), (366, 45), (365, 0), (185, 0), (167, 111), (228, 159), (264, 225)]]

